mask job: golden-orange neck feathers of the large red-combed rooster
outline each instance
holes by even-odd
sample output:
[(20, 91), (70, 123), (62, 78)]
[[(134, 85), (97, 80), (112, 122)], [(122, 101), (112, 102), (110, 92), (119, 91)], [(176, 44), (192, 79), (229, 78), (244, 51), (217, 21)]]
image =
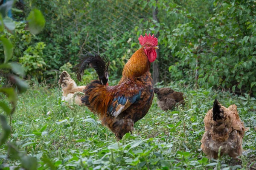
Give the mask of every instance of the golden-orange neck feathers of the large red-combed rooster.
[(150, 62), (144, 52), (144, 47), (138, 49), (125, 64), (122, 71), (122, 79), (134, 79), (142, 76), (150, 69)]

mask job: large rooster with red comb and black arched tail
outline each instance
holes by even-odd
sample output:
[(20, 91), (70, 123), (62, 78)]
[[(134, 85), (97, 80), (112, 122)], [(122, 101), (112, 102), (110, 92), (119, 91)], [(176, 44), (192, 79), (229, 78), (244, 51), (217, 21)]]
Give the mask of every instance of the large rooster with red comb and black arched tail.
[(118, 140), (125, 133), (131, 132), (134, 123), (146, 115), (154, 97), (153, 79), (149, 69), (151, 62), (157, 58), (157, 38), (154, 34), (145, 34), (144, 37), (139, 37), (139, 42), (142, 47), (125, 64), (118, 85), (107, 86), (106, 59), (103, 59), (105, 67), (99, 67), (95, 61), (96, 55), (93, 57), (87, 53), (80, 57), (80, 63), (74, 67), (79, 81), (87, 65), (96, 70), (99, 79), (91, 81), (84, 88), (84, 96), (80, 102), (98, 114), (102, 125), (108, 127)]

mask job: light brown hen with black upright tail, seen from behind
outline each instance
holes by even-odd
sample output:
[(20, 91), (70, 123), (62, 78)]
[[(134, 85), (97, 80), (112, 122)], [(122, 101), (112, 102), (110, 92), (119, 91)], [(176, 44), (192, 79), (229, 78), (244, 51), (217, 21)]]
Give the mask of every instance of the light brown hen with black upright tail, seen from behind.
[(239, 118), (236, 105), (225, 108), (215, 99), (213, 108), (204, 118), (204, 125), (201, 149), (210, 159), (218, 158), (219, 147), (221, 155), (237, 158), (242, 154), (244, 131), (247, 129)]

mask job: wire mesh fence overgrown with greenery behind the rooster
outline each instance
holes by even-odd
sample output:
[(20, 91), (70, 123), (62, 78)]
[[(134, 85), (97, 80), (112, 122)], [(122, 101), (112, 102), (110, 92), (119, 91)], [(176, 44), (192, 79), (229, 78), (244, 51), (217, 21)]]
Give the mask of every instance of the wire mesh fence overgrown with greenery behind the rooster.
[[(138, 36), (149, 32), (148, 23), (154, 22), (153, 9), (143, 6), (140, 0), (25, 0), (25, 11), (33, 6), (44, 13), (47, 21), (38, 39), (47, 44), (47, 57), (52, 58), (52, 63), (56, 62), (56, 69), (63, 63), (75, 62), (78, 54), (85, 50), (125, 63), (133, 53), (131, 50), (139, 47), (135, 45)], [(57, 61), (58, 58), (61, 60)], [(159, 80), (165, 83), (171, 81), (169, 63), (160, 53), (157, 61)], [(121, 71), (122, 66), (116, 64)]]

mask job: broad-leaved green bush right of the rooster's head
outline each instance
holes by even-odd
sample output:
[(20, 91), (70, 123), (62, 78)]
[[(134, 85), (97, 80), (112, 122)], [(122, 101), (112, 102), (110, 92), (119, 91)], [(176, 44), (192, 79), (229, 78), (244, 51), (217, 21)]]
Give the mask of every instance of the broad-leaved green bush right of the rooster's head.
[(212, 13), (202, 17), (198, 13), (206, 14), (212, 8), (209, 2), (203, 3), (209, 10), (197, 13), (191, 13), (186, 5), (169, 3), (170, 15), (186, 18), (175, 25), (169, 39), (161, 35), (172, 56), (178, 57), (169, 67), (175, 73), (173, 80), (196, 77), (193, 82), (200, 87), (256, 95), (254, 1), (215, 0)]

